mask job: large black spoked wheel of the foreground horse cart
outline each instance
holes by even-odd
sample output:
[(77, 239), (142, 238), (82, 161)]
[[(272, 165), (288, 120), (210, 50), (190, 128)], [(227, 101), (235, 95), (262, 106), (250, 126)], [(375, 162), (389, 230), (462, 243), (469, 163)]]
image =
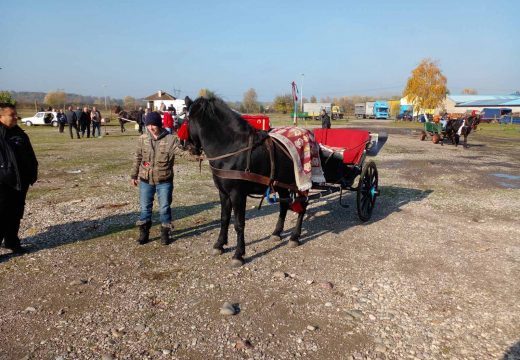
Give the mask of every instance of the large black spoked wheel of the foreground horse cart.
[(372, 216), (372, 210), (379, 195), (377, 167), (370, 161), (359, 176), (357, 188), (357, 208), (361, 221), (368, 221)]

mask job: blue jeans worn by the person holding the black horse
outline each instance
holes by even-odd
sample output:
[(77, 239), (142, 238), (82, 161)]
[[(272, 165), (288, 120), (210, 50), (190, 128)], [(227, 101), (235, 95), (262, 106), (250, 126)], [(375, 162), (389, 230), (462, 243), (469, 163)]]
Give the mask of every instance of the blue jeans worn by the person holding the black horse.
[(150, 185), (144, 181), (139, 182), (139, 202), (141, 206), (139, 222), (152, 221), (153, 198), (156, 192), (159, 198), (161, 224), (170, 225), (172, 222), (173, 182), (164, 182), (157, 185)]

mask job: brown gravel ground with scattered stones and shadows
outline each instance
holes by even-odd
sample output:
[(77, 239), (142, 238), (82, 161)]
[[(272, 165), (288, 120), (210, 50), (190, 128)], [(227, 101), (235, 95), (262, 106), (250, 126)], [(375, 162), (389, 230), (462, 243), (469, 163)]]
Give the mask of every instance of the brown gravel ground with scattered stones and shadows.
[(108, 175), (88, 165), (92, 147), (58, 175), (42, 155), (21, 230), (31, 252), (0, 250), (0, 358), (520, 359), (519, 142), (477, 133), (463, 149), (387, 130), (370, 222), (355, 194), (349, 209), (330, 195), (292, 249), (268, 239), (277, 207), (251, 200), (239, 269), (233, 227), (230, 250), (210, 255), (207, 166), (176, 166), (173, 244), (139, 246), (134, 137), (117, 139), (123, 170)]

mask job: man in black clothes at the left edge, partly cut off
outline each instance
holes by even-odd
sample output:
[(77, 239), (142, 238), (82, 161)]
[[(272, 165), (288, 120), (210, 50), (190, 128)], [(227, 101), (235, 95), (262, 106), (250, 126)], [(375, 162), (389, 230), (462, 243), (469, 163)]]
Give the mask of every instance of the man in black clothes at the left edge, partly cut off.
[(29, 186), (38, 177), (38, 161), (27, 134), (18, 126), (16, 107), (0, 103), (0, 243), (13, 253), (26, 250), (18, 231)]

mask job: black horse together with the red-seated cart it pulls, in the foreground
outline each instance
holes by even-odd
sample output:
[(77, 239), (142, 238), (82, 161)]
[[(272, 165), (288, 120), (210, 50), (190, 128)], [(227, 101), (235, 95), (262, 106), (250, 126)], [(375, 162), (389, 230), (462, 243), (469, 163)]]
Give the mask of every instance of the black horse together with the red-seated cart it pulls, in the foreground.
[[(179, 129), (179, 138), (188, 142), (193, 154), (201, 155), (204, 150), (219, 191), (221, 226), (213, 245), (215, 255), (224, 253), (231, 214), (234, 213), (237, 247), (232, 266), (245, 262), (245, 212), (249, 195), (272, 200), (268, 195), (278, 194), (280, 212), (271, 233), (274, 240), (280, 241), (284, 237), (287, 211), (291, 209), (298, 213), (296, 225), (289, 235), (290, 247), (300, 244), (309, 200), (340, 192), (340, 204), (345, 206), (341, 202), (342, 192), (356, 191), (359, 218), (362, 221), (370, 219), (379, 195), (379, 179), (375, 163), (365, 164), (365, 158), (377, 154), (386, 142), (386, 135), (354, 129), (315, 129), (312, 133), (294, 127), (259, 131), (252, 129), (246, 120), (258, 128), (268, 125), (263, 121), (266, 119), (245, 119), (219, 98), (200, 97), (195, 101), (186, 98), (186, 106), (189, 120)], [(280, 137), (285, 131), (290, 135), (285, 140), (293, 143), (295, 151), (284, 146), (285, 140)], [(296, 159), (301, 161), (294, 160), (294, 152), (298, 155)]]

